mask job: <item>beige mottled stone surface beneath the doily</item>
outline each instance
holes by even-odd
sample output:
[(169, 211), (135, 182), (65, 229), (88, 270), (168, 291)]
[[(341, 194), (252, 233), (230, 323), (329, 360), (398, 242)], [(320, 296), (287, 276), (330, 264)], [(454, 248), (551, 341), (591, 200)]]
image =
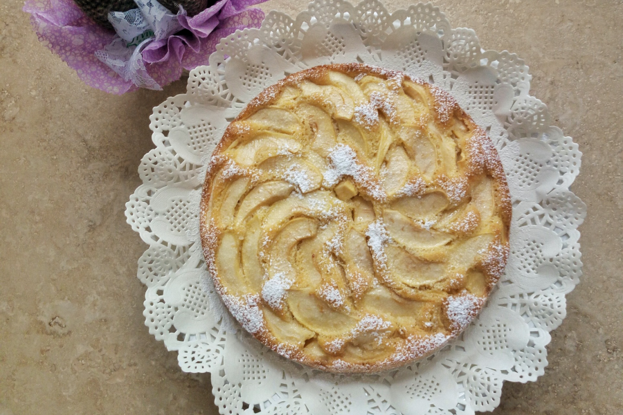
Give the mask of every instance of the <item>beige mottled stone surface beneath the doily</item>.
[[(21, 4), (0, 3), (0, 415), (217, 414), (209, 376), (183, 374), (143, 324), (145, 245), (123, 214), (153, 147), (151, 109), (185, 84), (123, 96), (84, 86)], [(494, 413), (623, 414), (623, 3), (437, 5), (484, 48), (523, 57), (532, 93), (584, 152), (572, 187), (588, 205), (584, 277), (545, 375), (507, 383)]]

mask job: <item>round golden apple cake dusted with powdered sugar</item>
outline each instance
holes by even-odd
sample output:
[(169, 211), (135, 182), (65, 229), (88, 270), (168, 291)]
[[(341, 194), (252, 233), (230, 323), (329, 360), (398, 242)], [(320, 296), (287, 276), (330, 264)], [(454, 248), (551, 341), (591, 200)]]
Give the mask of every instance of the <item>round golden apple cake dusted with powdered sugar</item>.
[(506, 265), (511, 203), (491, 140), (436, 86), (316, 66), (251, 100), (208, 166), (201, 242), (224, 304), (327, 371), (423, 358)]

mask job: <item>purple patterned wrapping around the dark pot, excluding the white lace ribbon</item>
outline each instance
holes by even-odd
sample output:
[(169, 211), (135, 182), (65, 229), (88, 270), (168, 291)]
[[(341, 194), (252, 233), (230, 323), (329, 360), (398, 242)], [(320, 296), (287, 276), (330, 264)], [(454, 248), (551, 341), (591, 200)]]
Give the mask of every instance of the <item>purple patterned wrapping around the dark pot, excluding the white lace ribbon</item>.
[[(208, 64), (220, 39), (243, 28), (259, 28), (264, 13), (248, 8), (266, 0), (219, 0), (196, 16), (183, 10), (177, 14), (185, 29), (163, 39), (148, 39), (141, 45), (141, 57), (153, 89), (178, 80), (183, 69), (189, 71)], [(28, 0), (24, 11), (39, 40), (56, 53), (87, 85), (109, 93), (122, 94), (138, 89), (132, 79), (124, 79), (104, 64), (96, 53), (122, 40), (112, 30), (101, 28), (71, 0)]]

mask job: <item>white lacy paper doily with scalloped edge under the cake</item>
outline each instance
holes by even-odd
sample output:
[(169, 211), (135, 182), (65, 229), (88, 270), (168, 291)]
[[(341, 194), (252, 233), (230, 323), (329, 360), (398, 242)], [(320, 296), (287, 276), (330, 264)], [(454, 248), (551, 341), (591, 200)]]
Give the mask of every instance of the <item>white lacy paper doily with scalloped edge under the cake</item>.
[[(435, 356), (366, 376), (312, 371), (246, 335), (210, 285), (198, 237), (202, 160), (228, 122), (286, 75), (341, 62), (399, 69), (450, 91), (494, 140), (514, 208), (506, 273), (478, 319)], [(224, 39), (209, 66), (191, 71), (187, 92), (154, 109), (156, 148), (126, 205), (149, 244), (138, 261), (145, 324), (178, 351), (184, 371), (210, 372), (221, 414), (467, 415), (498, 406), (504, 380), (543, 374), (548, 332), (581, 275), (586, 205), (569, 190), (581, 153), (529, 95), (527, 70), (512, 53), (482, 50), (473, 30), (451, 28), (431, 4), (390, 14), (376, 0), (316, 0), (295, 18), (271, 12), (259, 30)]]

